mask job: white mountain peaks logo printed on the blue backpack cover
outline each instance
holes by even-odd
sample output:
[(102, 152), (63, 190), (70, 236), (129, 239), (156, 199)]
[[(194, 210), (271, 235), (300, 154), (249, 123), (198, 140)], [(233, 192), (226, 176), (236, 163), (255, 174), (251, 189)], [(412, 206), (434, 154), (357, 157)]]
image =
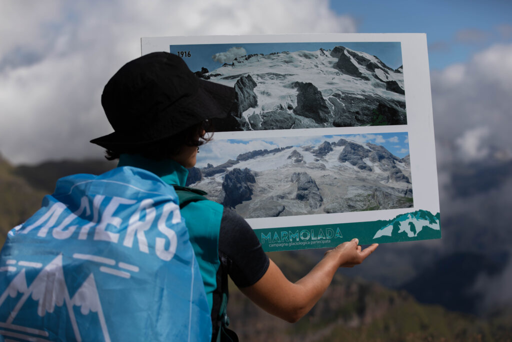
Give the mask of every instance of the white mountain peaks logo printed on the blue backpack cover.
[[(101, 308), (94, 275), (91, 273), (76, 291), (75, 295), (70, 298), (68, 287), (66, 286), (64, 271), (62, 269), (62, 254), (58, 255), (51, 261), (51, 263), (42, 269), (41, 272), (39, 272), (34, 281), (32, 281), (30, 287), (27, 286), (25, 269), (20, 271), (0, 296), (0, 306), (4, 304), (7, 296), (16, 297), (18, 293), (23, 294), (22, 298), (19, 299), (7, 321), (5, 323), (0, 323), (0, 326), (22, 332), (48, 336), (48, 332), (46, 331), (12, 324), (19, 310), (23, 307), (29, 296), (32, 296), (32, 299), (38, 302), (37, 314), (41, 317), (48, 313), (53, 313), (55, 306), (60, 307), (62, 305), (66, 305), (69, 320), (71, 321), (77, 341), (81, 341), (82, 338), (78, 329), (73, 306), (80, 307), (80, 313), (83, 315), (88, 315), (91, 311), (97, 313), (103, 337), (106, 342), (110, 342), (110, 336), (106, 327), (103, 310)], [(26, 337), (33, 338), (33, 336), (28, 335)]]

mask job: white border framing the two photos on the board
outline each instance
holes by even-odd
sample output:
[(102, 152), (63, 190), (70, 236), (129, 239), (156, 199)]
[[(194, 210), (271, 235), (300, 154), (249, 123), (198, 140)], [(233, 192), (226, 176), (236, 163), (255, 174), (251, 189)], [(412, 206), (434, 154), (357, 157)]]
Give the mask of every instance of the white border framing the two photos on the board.
[(429, 58), (424, 33), (336, 33), (280, 35), (221, 35), (143, 37), (141, 52), (169, 51), (169, 45), (237, 43), (307, 43), (307, 42), (400, 42), (406, 91), (407, 125), (321, 129), (295, 129), (250, 132), (217, 132), (216, 139), (310, 136), (326, 134), (378, 134), (408, 132), (414, 208), (365, 212), (315, 214), (286, 217), (251, 218), (253, 229), (369, 222), (392, 219), (418, 209), (439, 212), (432, 96)]

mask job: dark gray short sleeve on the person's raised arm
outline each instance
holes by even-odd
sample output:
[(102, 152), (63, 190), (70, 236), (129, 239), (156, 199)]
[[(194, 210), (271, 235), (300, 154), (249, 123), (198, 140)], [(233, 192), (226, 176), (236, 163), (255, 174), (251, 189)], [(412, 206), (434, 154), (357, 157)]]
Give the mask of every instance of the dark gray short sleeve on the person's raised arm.
[(252, 228), (229, 208), (224, 208), (222, 213), (219, 253), (225, 256), (227, 273), (238, 287), (254, 285), (270, 263)]

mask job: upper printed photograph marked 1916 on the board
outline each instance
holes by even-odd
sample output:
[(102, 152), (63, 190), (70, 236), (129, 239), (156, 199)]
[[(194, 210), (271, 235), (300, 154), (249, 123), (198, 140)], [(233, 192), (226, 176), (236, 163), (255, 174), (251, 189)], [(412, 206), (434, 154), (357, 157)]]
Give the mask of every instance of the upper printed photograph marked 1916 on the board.
[(170, 45), (190, 70), (234, 87), (216, 131), (406, 125), (400, 42)]

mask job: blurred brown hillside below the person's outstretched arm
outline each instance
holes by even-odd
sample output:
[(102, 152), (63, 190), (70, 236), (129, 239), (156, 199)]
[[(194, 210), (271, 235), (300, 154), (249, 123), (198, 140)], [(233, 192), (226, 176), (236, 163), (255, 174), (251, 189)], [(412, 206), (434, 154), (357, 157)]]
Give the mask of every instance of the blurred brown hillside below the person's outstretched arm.
[[(314, 266), (305, 253), (269, 256), (292, 281)], [(244, 341), (500, 341), (512, 336), (510, 313), (492, 318), (451, 312), (418, 303), (406, 291), (386, 289), (338, 271), (317, 305), (296, 324), (255, 308), (230, 284), (230, 328)]]

